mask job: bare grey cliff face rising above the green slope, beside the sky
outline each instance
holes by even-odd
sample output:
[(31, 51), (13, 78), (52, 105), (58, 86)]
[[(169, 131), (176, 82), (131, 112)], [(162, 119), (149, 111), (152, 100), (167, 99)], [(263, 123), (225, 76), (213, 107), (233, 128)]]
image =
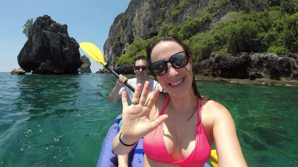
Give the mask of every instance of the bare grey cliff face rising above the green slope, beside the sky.
[(162, 22), (182, 23), (209, 3), (210, 0), (131, 0), (126, 11), (120, 13), (110, 27), (103, 47), (106, 62), (114, 68), (116, 57), (120, 57), (128, 45), (156, 36)]

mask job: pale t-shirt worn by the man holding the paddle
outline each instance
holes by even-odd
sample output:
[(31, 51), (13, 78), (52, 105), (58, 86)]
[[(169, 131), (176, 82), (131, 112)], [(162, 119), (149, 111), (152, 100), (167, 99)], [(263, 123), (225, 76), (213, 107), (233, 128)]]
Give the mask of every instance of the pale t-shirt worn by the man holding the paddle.
[[(148, 81), (150, 83), (150, 88), (149, 88), (149, 92), (152, 92), (154, 91), (156, 88), (159, 89), (159, 91), (161, 92), (162, 91), (162, 87), (160, 86), (160, 84), (155, 81), (155, 80), (152, 80), (152, 79), (149, 79), (148, 78)], [(132, 79), (129, 79), (127, 81), (127, 83), (129, 83), (133, 88), (136, 89), (136, 86), (137, 86), (137, 78), (132, 78)], [(127, 86), (125, 87), (122, 87), (119, 91), (119, 94), (122, 95), (122, 92), (125, 91), (127, 93), (127, 103), (128, 105), (130, 106), (132, 104), (132, 99), (133, 99), (133, 96), (134, 96), (134, 92), (131, 91)]]

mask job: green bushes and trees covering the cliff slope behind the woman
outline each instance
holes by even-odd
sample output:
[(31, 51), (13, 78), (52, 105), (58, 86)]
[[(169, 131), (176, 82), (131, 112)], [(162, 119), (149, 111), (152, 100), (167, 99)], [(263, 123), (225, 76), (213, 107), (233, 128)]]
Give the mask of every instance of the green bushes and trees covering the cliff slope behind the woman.
[[(200, 16), (194, 13), (182, 24), (162, 23), (158, 36), (135, 41), (117, 57), (116, 63), (132, 63), (136, 55), (146, 54), (149, 42), (165, 35), (174, 35), (188, 44), (195, 61), (221, 52), (298, 53), (298, 0), (254, 0), (253, 4), (238, 0), (229, 6), (231, 9), (221, 21), (211, 23), (212, 15), (228, 3), (229, 0), (214, 0), (201, 10)], [(181, 12), (184, 4), (183, 0), (176, 6), (172, 17)]]

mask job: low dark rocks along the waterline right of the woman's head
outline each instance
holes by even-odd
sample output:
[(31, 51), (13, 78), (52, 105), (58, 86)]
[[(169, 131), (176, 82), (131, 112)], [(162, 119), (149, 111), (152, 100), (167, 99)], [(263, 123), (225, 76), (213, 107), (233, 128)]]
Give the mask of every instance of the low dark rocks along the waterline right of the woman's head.
[(277, 56), (271, 53), (216, 54), (194, 64), (194, 73), (213, 77), (281, 80), (282, 77), (298, 80), (298, 55)]

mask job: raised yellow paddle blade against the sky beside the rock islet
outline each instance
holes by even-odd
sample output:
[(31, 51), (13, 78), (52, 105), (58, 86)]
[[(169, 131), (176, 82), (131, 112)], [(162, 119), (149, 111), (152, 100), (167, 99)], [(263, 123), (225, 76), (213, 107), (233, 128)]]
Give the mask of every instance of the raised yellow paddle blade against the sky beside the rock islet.
[(106, 62), (104, 62), (104, 58), (101, 51), (94, 44), (90, 42), (81, 42), (79, 43), (79, 46), (87, 55), (93, 58), (96, 62), (101, 63), (103, 66), (107, 64)]

